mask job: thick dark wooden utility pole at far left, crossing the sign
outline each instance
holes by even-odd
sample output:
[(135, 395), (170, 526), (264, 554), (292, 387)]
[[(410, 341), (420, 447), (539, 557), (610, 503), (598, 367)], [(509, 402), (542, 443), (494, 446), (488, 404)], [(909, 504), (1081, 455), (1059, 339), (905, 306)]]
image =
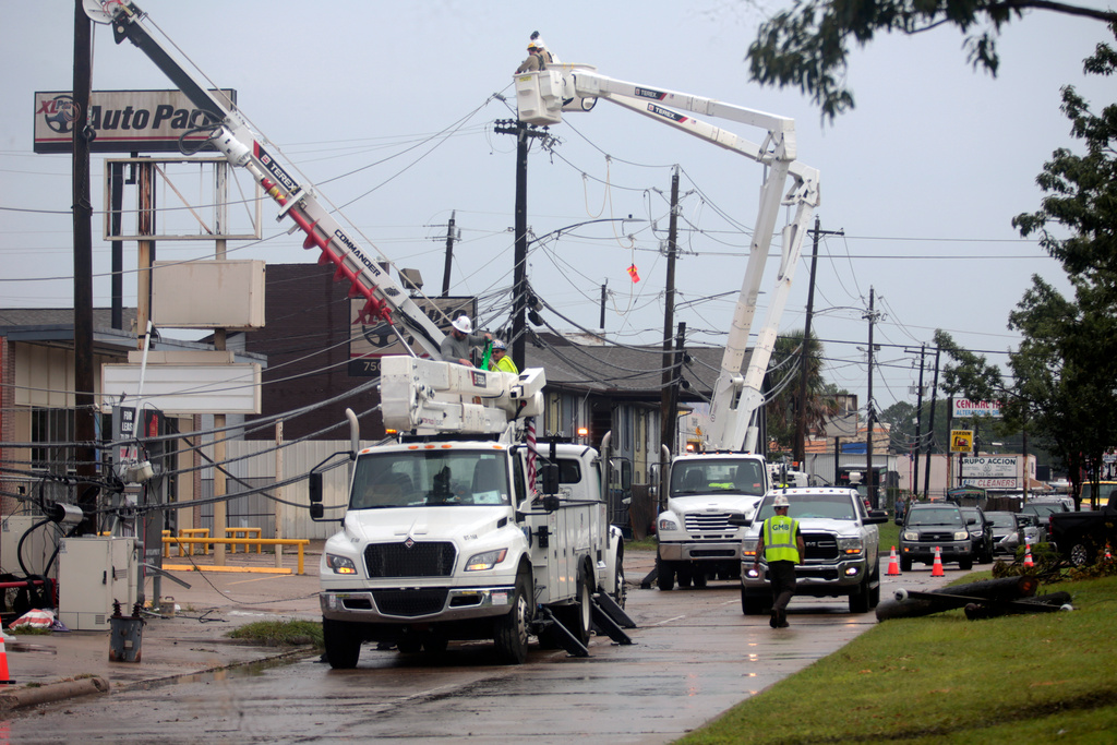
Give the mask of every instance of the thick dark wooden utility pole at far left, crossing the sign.
[(77, 506), (85, 517), (76, 535), (97, 531), (98, 489), (89, 485), (96, 476), (96, 440), (93, 386), (93, 203), (89, 201), (89, 95), (93, 88), (93, 31), (80, 0), (74, 2), (74, 449), (78, 476)]

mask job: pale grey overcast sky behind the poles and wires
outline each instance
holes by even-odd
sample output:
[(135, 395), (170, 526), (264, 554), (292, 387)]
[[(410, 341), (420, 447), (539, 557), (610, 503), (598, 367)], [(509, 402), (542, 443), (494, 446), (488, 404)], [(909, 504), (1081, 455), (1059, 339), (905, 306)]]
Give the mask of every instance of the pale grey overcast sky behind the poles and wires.
[[(868, 388), (870, 292), (879, 317), (873, 372), (878, 410), (915, 403), (918, 348), (936, 328), (1003, 363), (1019, 337), (1009, 313), (1041, 275), (1066, 289), (1059, 265), (1011, 219), (1034, 211), (1035, 176), (1058, 147), (1080, 150), (1059, 111), (1073, 85), (1097, 107), (1113, 80), (1086, 77), (1082, 59), (1109, 41), (1098, 21), (1032, 11), (997, 41), (995, 78), (973, 70), (963, 36), (943, 27), (884, 36), (852, 54), (847, 82), (857, 106), (833, 123), (798, 89), (748, 80), (745, 52), (765, 15), (784, 2), (726, 0), (485, 3), (461, 0), (316, 4), (273, 0), (146, 0), (183, 54), (220, 87), (273, 152), (343, 222), (398, 267), (420, 269), (441, 289), (447, 222), (460, 230), (451, 294), (476, 294), (479, 321), (506, 322), (512, 285), (515, 141), (495, 132), (515, 117), (512, 73), (538, 30), (564, 63), (795, 120), (799, 160), (821, 172), (821, 228), (841, 231), (819, 247), (815, 316), (823, 374), (860, 395)], [(1083, 4), (1106, 7), (1090, 0)], [(17, 3), (0, 28), (0, 307), (73, 305), (70, 159), (32, 152), (34, 94), (71, 83), (70, 2)], [(171, 84), (131, 45), (96, 27), (95, 90)], [(758, 142), (763, 133), (715, 122)], [(762, 169), (739, 155), (599, 102), (550, 130), (550, 149), (528, 164), (528, 278), (563, 331), (598, 329), (608, 285), (607, 335), (659, 343), (663, 332), (671, 170), (681, 169), (676, 321), (688, 344), (722, 344), (739, 290)], [(94, 204), (103, 204), (104, 156), (93, 163)], [(160, 203), (171, 203), (170, 194)], [(264, 206), (265, 240), (233, 241), (229, 258), (316, 260)], [(631, 221), (621, 221), (632, 218)], [(598, 220), (561, 238), (561, 228)], [(109, 304), (109, 247), (94, 218), (94, 303)], [(780, 322), (801, 331), (809, 246)], [(212, 242), (163, 241), (159, 258), (212, 257)], [(776, 255), (777, 256), (777, 255)], [(125, 303), (135, 302), (136, 250), (125, 249)], [(628, 268), (636, 265), (633, 283)], [(753, 332), (774, 281), (771, 259)], [(558, 314), (566, 316), (564, 319)], [(168, 333), (168, 332), (164, 332)], [(170, 335), (188, 336), (187, 333)], [(860, 350), (858, 347), (861, 347)], [(944, 361), (945, 362), (945, 361)], [(930, 381), (930, 361), (926, 383)]]

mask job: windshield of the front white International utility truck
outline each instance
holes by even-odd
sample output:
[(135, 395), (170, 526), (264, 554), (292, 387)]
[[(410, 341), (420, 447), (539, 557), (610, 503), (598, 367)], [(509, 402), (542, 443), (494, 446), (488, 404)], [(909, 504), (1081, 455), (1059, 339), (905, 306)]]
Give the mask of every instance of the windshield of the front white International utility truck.
[(508, 469), (502, 452), (416, 450), (357, 458), (350, 509), (419, 505), (507, 505)]

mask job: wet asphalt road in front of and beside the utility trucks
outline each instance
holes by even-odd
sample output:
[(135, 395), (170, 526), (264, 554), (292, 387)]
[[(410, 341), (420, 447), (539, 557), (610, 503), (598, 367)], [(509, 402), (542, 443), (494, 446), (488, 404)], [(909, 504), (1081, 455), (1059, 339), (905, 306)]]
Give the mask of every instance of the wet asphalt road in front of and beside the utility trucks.
[[(944, 582), (929, 567), (901, 577), (886, 567), (887, 556), (885, 598)], [(594, 637), (590, 658), (533, 644), (525, 665), (503, 667), (481, 642), (439, 657), (366, 644), (355, 670), (308, 657), (42, 707), (8, 722), (0, 744), (669, 743), (876, 624), (872, 613), (850, 614), (844, 599), (795, 599), (792, 627), (773, 630), (767, 617), (742, 614), (729, 582), (633, 589), (628, 611), (640, 627), (629, 632), (636, 643)]]

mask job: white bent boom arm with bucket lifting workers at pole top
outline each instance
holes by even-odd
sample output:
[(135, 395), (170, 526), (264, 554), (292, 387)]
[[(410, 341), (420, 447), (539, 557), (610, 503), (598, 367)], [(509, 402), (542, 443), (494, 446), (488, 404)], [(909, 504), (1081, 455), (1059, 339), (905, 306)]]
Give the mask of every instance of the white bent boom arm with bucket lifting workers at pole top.
[[(748, 265), (733, 314), (722, 369), (714, 385), (706, 442), (709, 449), (755, 450), (758, 430), (753, 420), (763, 405), (761, 385), (802, 254), (806, 226), (819, 204), (819, 172), (795, 160), (795, 124), (786, 117), (713, 98), (615, 80), (599, 75), (585, 65), (555, 65), (516, 76), (519, 118), (531, 124), (557, 124), (562, 122), (562, 112), (588, 112), (599, 98), (744, 155), (768, 169), (761, 190)], [(741, 122), (765, 130), (767, 134), (762, 143), (756, 144), (677, 109)], [(789, 178), (792, 183), (786, 188)], [(783, 228), (780, 270), (772, 300), (757, 333), (748, 370), (742, 375), (756, 297), (782, 206), (793, 208), (793, 216)]]

